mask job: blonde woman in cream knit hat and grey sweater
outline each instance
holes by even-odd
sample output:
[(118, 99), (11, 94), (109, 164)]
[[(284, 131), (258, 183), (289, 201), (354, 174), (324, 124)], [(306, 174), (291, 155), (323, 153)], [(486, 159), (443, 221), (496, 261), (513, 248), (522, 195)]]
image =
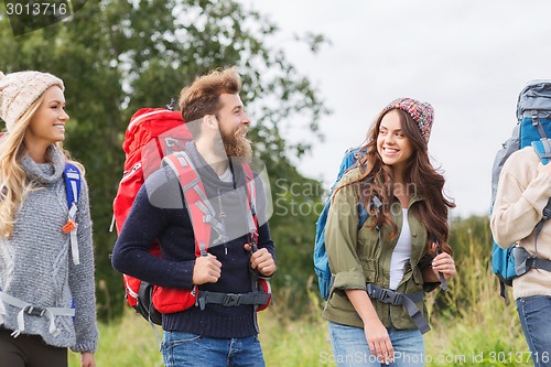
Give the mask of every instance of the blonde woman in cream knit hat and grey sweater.
[[(67, 366), (67, 348), (94, 367), (94, 252), (84, 177), (69, 213), (63, 82), (0, 73), (0, 355), (10, 367)], [(78, 176), (78, 175), (77, 175)], [(77, 181), (78, 182), (78, 181)], [(76, 186), (76, 184), (75, 184)], [(76, 209), (76, 213), (75, 213)]]

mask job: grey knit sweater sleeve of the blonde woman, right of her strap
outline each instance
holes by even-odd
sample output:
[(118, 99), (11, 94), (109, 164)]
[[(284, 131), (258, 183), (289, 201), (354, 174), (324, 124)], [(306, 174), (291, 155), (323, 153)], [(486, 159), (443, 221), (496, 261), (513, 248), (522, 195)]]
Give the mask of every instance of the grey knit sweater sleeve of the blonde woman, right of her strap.
[(77, 212), (77, 239), (80, 263), (69, 261), (69, 288), (75, 303), (76, 353), (95, 353), (98, 343), (96, 293), (94, 280), (94, 248), (89, 211), (88, 185), (83, 179)]

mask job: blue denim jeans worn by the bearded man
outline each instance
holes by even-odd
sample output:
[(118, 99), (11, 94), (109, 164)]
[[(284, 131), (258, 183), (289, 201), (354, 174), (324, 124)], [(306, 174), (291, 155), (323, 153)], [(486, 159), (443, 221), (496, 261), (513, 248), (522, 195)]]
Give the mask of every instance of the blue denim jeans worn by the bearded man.
[(161, 352), (165, 367), (264, 367), (257, 335), (222, 339), (164, 332)]

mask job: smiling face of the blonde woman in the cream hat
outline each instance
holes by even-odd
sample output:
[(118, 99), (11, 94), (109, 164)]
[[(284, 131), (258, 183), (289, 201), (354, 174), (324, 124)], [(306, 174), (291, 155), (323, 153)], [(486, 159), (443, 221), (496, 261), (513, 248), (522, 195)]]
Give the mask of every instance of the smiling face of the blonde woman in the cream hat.
[(65, 122), (68, 119), (63, 90), (57, 86), (50, 87), (44, 91), (44, 99), (25, 131), (25, 144), (45, 150), (65, 140)]

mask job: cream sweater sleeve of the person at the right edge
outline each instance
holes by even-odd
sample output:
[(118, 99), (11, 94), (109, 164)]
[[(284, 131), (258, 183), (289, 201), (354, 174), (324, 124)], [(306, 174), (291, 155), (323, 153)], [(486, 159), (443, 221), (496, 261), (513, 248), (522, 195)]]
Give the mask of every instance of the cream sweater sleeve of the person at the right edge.
[(551, 175), (538, 173), (538, 164), (531, 147), (515, 152), (504, 164), (490, 218), (491, 235), (503, 248), (533, 231), (551, 197)]

